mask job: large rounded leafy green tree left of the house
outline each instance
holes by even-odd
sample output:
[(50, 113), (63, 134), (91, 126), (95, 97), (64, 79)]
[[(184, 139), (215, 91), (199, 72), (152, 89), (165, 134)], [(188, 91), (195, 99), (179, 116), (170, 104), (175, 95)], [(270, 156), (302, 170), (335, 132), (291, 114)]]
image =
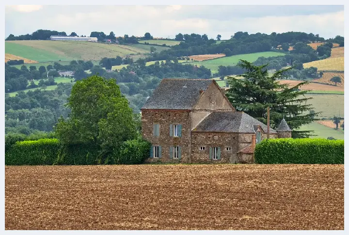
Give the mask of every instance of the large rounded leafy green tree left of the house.
[(114, 79), (94, 75), (78, 81), (67, 106), (71, 114), (67, 119), (61, 117), (56, 127), (63, 144), (94, 146), (103, 158), (137, 136), (133, 111)]

